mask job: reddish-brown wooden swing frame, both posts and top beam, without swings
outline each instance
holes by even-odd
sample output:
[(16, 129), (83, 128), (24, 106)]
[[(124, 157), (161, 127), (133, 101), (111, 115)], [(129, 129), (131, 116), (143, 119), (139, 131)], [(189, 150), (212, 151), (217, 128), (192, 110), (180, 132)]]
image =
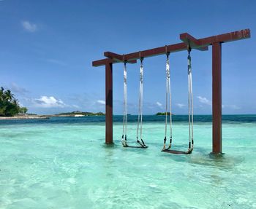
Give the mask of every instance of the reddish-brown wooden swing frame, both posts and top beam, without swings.
[(118, 55), (104, 52), (105, 59), (95, 60), (92, 66), (105, 66), (105, 143), (113, 143), (113, 63), (137, 63), (144, 58), (166, 55), (189, 49), (206, 51), (212, 46), (212, 153), (222, 153), (222, 44), (250, 38), (250, 30), (244, 29), (195, 39), (189, 33), (181, 33), (181, 43), (150, 50)]

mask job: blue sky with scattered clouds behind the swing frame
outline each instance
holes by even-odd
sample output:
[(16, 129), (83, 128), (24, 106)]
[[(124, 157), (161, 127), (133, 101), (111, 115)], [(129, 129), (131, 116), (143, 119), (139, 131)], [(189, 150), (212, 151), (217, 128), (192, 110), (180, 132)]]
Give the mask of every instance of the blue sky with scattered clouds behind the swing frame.
[[(256, 114), (256, 1), (0, 1), (0, 85), (29, 112), (105, 111), (105, 68), (92, 60), (250, 28), (222, 44), (223, 114)], [(165, 56), (144, 61), (143, 112), (164, 111)], [(138, 112), (139, 64), (128, 65), (128, 113)], [(187, 52), (170, 55), (173, 113), (187, 114)], [(192, 51), (195, 114), (211, 114), (211, 47)], [(123, 66), (113, 68), (122, 114)]]

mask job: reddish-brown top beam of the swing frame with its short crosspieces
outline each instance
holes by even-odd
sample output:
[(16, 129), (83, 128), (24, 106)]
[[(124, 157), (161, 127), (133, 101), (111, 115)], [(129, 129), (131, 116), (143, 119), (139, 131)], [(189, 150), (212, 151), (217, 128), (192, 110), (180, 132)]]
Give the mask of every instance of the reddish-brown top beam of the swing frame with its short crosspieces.
[(127, 60), (128, 62), (132, 60), (138, 60), (141, 57), (148, 58), (151, 56), (164, 55), (167, 52), (179, 52), (187, 50), (187, 44), (191, 44), (192, 49), (197, 50), (207, 50), (207, 47), (216, 42), (233, 42), (240, 39), (247, 39), (251, 36), (250, 30), (245, 29), (241, 31), (234, 31), (231, 33), (224, 33), (217, 36), (210, 36), (203, 39), (195, 39), (193, 36), (189, 35), (189, 33), (181, 33), (180, 38), (182, 41), (178, 44), (166, 45), (164, 47), (157, 47), (151, 50), (143, 50), (140, 52), (133, 52), (126, 55), (118, 55), (113, 52), (105, 52), (108, 59), (97, 60), (92, 63), (93, 66), (102, 66), (105, 65), (106, 62), (118, 63), (120, 60)]

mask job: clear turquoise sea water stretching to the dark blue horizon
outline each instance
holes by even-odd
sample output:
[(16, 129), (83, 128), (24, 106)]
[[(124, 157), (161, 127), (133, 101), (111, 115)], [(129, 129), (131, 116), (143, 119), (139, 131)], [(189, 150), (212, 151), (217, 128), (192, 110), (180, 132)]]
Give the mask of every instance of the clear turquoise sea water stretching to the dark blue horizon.
[[(223, 117), (222, 157), (209, 154), (211, 117), (195, 117), (187, 156), (160, 151), (164, 117), (143, 118), (148, 149), (124, 149), (114, 119), (113, 146), (104, 117), (0, 121), (0, 208), (256, 208), (256, 116)], [(186, 120), (174, 117), (174, 149), (187, 149)]]

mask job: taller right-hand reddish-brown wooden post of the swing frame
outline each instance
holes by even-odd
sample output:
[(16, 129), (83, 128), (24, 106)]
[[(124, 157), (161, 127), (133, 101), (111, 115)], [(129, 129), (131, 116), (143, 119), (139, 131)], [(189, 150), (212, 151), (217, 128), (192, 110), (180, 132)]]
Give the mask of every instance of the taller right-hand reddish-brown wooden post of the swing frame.
[(222, 44), (212, 44), (212, 152), (222, 153)]

